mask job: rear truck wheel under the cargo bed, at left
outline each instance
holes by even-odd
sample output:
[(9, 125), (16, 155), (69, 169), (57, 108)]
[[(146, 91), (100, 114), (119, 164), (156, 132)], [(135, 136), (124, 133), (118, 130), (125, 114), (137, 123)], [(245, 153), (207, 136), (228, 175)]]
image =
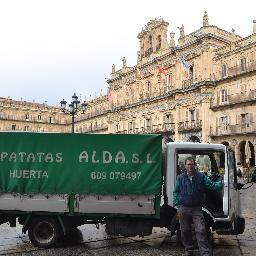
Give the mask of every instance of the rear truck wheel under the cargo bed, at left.
[(54, 247), (61, 235), (56, 220), (49, 217), (38, 217), (31, 221), (28, 236), (31, 243), (40, 248)]

